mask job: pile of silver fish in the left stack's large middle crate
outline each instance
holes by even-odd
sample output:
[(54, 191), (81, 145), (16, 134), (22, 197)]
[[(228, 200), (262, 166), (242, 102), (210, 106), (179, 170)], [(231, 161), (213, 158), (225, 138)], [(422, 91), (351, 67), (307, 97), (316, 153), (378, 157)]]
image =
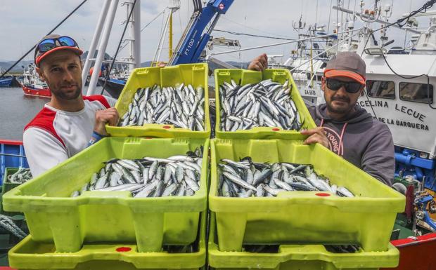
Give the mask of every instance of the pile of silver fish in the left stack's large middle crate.
[(202, 149), (168, 158), (111, 159), (71, 196), (84, 191), (130, 191), (137, 198), (192, 196), (200, 189)]

